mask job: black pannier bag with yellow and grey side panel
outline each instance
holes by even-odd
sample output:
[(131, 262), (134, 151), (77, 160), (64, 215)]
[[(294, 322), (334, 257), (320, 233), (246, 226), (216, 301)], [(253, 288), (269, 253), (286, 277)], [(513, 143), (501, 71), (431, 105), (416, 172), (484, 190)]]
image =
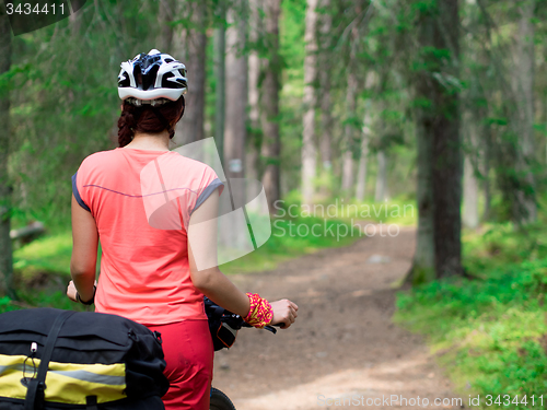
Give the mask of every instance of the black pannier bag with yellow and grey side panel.
[(163, 410), (161, 336), (120, 316), (0, 315), (0, 410)]

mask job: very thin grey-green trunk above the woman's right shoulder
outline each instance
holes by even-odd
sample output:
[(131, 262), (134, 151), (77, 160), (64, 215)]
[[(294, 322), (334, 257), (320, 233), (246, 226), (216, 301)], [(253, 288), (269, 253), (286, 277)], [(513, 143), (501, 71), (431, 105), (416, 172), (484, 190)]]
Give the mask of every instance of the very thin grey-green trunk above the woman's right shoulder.
[[(214, 141), (220, 160), (224, 161), (224, 122), (225, 122), (225, 4), (218, 5), (220, 25), (214, 28), (214, 78), (217, 79), (214, 104)], [(224, 167), (225, 168), (225, 167)]]

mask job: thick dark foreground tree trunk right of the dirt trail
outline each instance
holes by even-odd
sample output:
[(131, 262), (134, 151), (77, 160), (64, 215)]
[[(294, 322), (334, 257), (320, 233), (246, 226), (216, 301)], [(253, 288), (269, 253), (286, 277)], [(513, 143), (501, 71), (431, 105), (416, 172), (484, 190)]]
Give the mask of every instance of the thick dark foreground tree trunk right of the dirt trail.
[[(437, 49), (450, 50), (445, 72), (458, 78), (459, 15), (458, 0), (439, 1), (439, 19), (433, 37)], [(442, 63), (442, 62), (440, 62)], [(435, 272), (438, 278), (463, 274), (462, 267), (462, 142), (457, 90), (432, 83), (433, 107), (433, 202)]]

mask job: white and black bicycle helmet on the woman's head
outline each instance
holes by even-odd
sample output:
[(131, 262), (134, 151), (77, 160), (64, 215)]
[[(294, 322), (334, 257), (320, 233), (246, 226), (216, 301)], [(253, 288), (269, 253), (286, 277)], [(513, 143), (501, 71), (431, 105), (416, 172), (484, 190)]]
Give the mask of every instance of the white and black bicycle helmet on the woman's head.
[(187, 90), (185, 65), (155, 48), (121, 63), (118, 95), (132, 105), (162, 105), (177, 101)]

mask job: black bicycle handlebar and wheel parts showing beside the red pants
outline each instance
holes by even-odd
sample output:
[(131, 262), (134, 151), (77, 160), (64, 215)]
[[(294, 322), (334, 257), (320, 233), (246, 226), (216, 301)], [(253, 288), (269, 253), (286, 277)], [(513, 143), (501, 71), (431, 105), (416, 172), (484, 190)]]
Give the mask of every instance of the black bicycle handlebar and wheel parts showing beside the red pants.
[[(206, 305), (206, 314), (209, 319), (209, 330), (213, 339), (214, 351), (231, 348), (235, 342), (237, 331), (243, 327), (251, 328), (240, 315), (220, 307), (208, 297), (203, 298)], [(274, 325), (282, 326), (282, 324)], [(265, 329), (277, 333), (274, 326), (266, 326)], [(236, 410), (230, 398), (218, 388), (211, 387), (209, 410)]]

